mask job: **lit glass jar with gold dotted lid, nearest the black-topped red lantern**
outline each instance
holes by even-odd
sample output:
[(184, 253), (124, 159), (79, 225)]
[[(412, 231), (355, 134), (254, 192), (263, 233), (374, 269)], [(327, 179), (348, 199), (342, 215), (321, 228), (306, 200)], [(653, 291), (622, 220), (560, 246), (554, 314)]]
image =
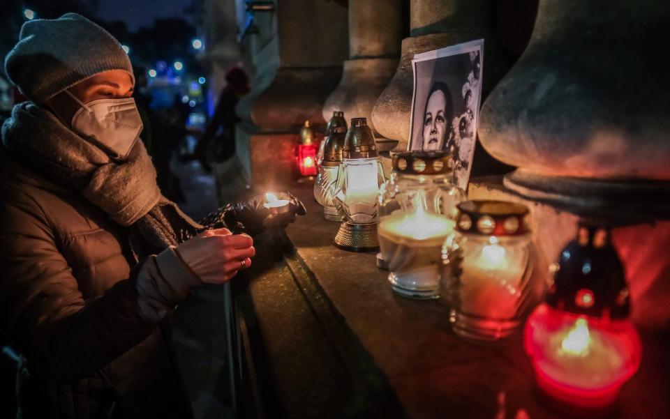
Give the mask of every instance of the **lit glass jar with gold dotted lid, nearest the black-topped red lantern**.
[(449, 320), (457, 335), (495, 342), (521, 326), (537, 302), (530, 282), (528, 208), (505, 201), (464, 201), (442, 248)]

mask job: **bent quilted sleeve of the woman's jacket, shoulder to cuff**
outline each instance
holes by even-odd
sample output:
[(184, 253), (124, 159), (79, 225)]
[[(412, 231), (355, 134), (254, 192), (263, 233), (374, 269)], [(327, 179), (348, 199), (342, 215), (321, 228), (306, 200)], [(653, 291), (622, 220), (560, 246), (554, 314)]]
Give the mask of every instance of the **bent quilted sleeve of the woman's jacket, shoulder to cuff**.
[(0, 199), (0, 275), (0, 332), (36, 371), (63, 383), (142, 342), (200, 284), (168, 249), (85, 302), (44, 213), (29, 198)]

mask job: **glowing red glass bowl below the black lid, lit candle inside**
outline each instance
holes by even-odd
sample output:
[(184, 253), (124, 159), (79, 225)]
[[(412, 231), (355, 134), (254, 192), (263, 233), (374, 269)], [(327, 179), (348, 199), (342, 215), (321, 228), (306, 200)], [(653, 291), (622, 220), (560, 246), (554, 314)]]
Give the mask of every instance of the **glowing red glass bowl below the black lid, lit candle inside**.
[(568, 404), (610, 404), (639, 366), (639, 337), (628, 321), (577, 316), (547, 305), (528, 319), (525, 346), (538, 385)]

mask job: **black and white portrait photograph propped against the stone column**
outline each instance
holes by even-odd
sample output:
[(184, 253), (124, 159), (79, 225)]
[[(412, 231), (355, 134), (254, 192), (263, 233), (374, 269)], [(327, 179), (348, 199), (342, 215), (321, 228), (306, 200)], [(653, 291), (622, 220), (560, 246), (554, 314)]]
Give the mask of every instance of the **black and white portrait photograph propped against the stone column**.
[(410, 151), (449, 151), (454, 180), (468, 185), (482, 93), (484, 40), (417, 54)]

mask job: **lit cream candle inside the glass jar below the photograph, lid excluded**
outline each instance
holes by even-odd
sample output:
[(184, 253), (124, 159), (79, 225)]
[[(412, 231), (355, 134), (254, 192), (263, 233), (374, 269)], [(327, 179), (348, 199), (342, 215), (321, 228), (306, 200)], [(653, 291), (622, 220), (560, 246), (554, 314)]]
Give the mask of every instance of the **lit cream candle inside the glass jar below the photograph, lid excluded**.
[(379, 245), (396, 291), (413, 297), (435, 298), (439, 290), (442, 243), (454, 229), (454, 221), (424, 210), (394, 211), (379, 223)]

